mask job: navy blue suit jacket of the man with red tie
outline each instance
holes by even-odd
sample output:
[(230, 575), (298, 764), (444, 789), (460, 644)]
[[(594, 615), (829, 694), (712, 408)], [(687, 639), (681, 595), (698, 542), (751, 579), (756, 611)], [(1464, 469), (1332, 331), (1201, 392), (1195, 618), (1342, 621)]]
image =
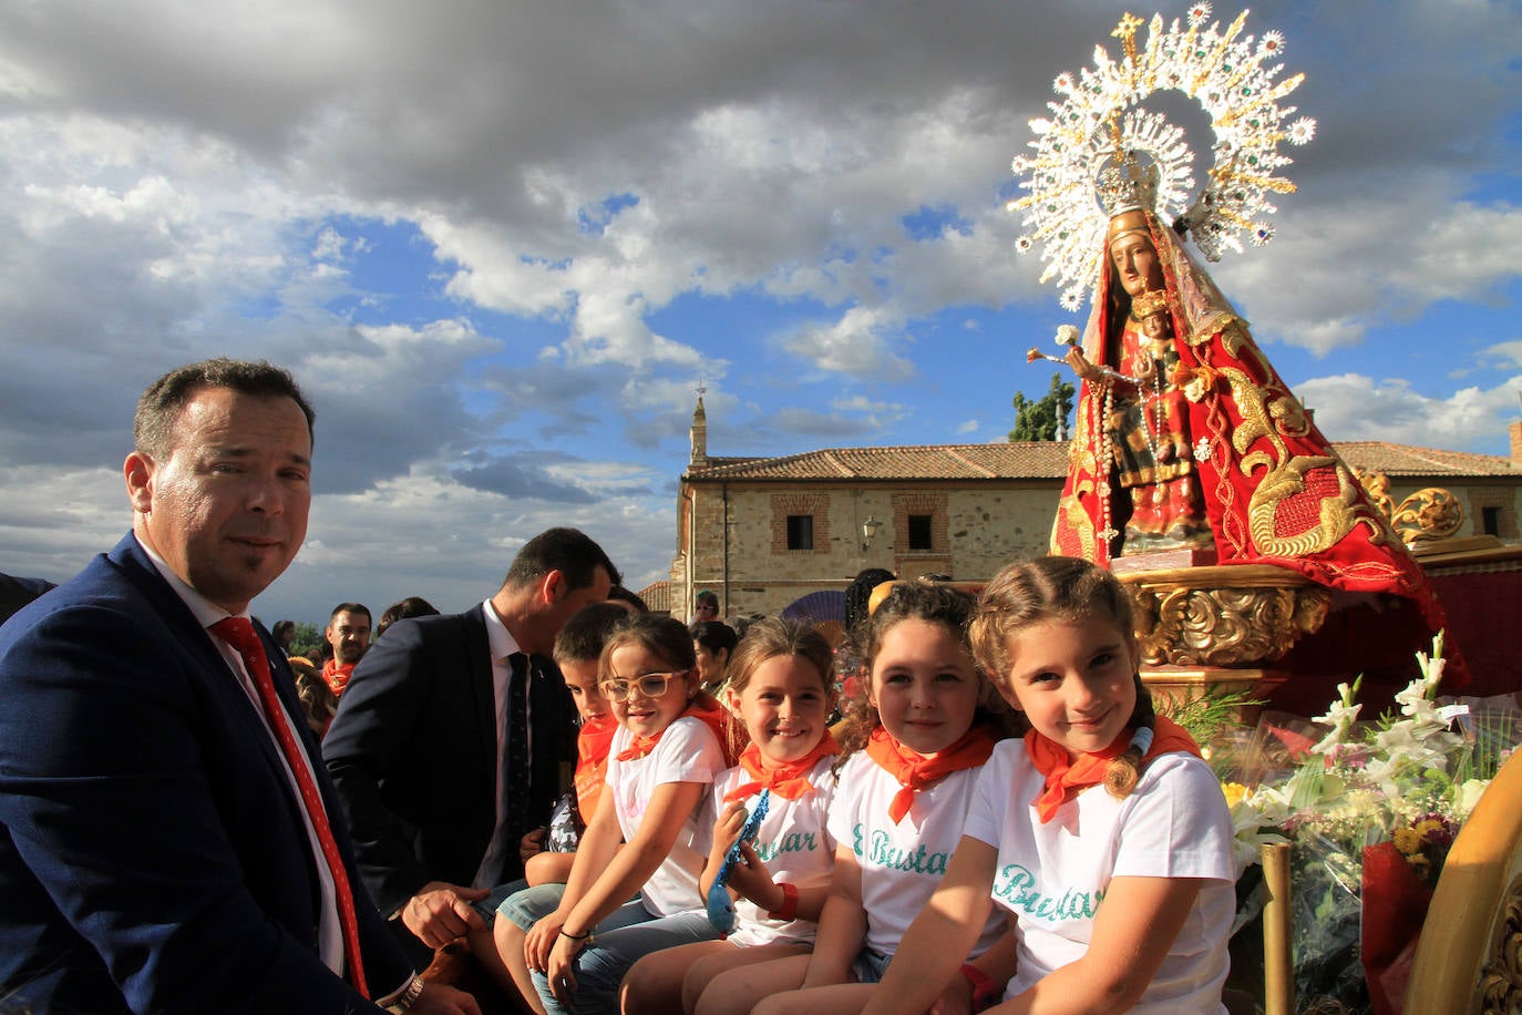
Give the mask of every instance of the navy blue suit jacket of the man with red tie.
[[(300, 717), (285, 656), (260, 636)], [(385, 995), (411, 968), (304, 746), (355, 887), (365, 978)], [(0, 998), (379, 1012), (318, 959), (315, 861), (279, 750), (131, 534), (0, 627)]]

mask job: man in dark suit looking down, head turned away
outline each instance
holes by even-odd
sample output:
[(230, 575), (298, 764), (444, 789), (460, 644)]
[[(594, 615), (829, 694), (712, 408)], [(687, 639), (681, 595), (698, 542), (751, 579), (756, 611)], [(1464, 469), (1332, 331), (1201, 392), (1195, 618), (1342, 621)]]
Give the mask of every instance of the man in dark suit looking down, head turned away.
[[(601, 546), (552, 528), (519, 549), (492, 598), (397, 621), (355, 668), (323, 753), (365, 884), (409, 948), (484, 930), (472, 904), (522, 877), (519, 840), (543, 825), (575, 758), (575, 706), (549, 653), (566, 618), (615, 583)], [(511, 706), (519, 680), (527, 715)], [(504, 765), (517, 723), (531, 729), (521, 768)]]

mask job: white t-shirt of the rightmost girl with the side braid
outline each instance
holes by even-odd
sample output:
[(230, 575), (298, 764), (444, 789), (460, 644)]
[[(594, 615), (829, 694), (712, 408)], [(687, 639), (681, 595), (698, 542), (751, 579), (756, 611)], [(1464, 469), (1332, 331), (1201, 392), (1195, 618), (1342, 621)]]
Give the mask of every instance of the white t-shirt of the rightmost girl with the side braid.
[(994, 901), (1020, 921), (1020, 971), (1005, 997), (1084, 956), (1111, 878), (1207, 878), (1131, 1010), (1225, 1012), (1221, 988), (1236, 913), (1236, 866), (1231, 814), (1210, 767), (1193, 755), (1160, 755), (1125, 800), (1091, 787), (1046, 825), (1030, 807), (1041, 790), (1043, 776), (1024, 741), (1006, 740), (983, 765), (966, 817), (966, 834), (998, 849)]

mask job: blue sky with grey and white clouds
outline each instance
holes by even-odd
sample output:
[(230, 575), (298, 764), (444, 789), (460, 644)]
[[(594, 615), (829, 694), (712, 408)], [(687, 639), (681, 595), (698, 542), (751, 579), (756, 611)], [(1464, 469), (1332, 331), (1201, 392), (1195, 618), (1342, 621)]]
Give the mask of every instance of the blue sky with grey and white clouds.
[[(1009, 163), (1123, 11), (5, 0), (0, 571), (120, 537), (132, 405), (212, 355), (318, 409), (266, 621), (464, 609), (554, 523), (664, 577), (699, 385), (715, 455), (1003, 440), (1052, 380), (1024, 350), (1076, 320), (1012, 250)], [(1333, 440), (1507, 453), (1522, 6), (1269, 29), (1318, 135), (1216, 280)]]

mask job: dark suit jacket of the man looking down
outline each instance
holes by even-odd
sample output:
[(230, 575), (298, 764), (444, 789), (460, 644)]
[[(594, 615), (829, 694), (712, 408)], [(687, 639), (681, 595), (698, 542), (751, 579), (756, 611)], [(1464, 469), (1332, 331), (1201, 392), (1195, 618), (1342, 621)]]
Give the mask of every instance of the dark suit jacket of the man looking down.
[[(387, 628), (355, 667), (323, 738), (359, 870), (384, 913), (429, 881), (469, 886), (496, 829), (496, 698), (484, 607)], [(556, 665), (531, 662), (531, 794), (508, 814), (502, 881), (522, 877), (517, 837), (542, 826), (575, 759), (575, 705)], [(524, 778), (524, 773), (513, 773)]]

